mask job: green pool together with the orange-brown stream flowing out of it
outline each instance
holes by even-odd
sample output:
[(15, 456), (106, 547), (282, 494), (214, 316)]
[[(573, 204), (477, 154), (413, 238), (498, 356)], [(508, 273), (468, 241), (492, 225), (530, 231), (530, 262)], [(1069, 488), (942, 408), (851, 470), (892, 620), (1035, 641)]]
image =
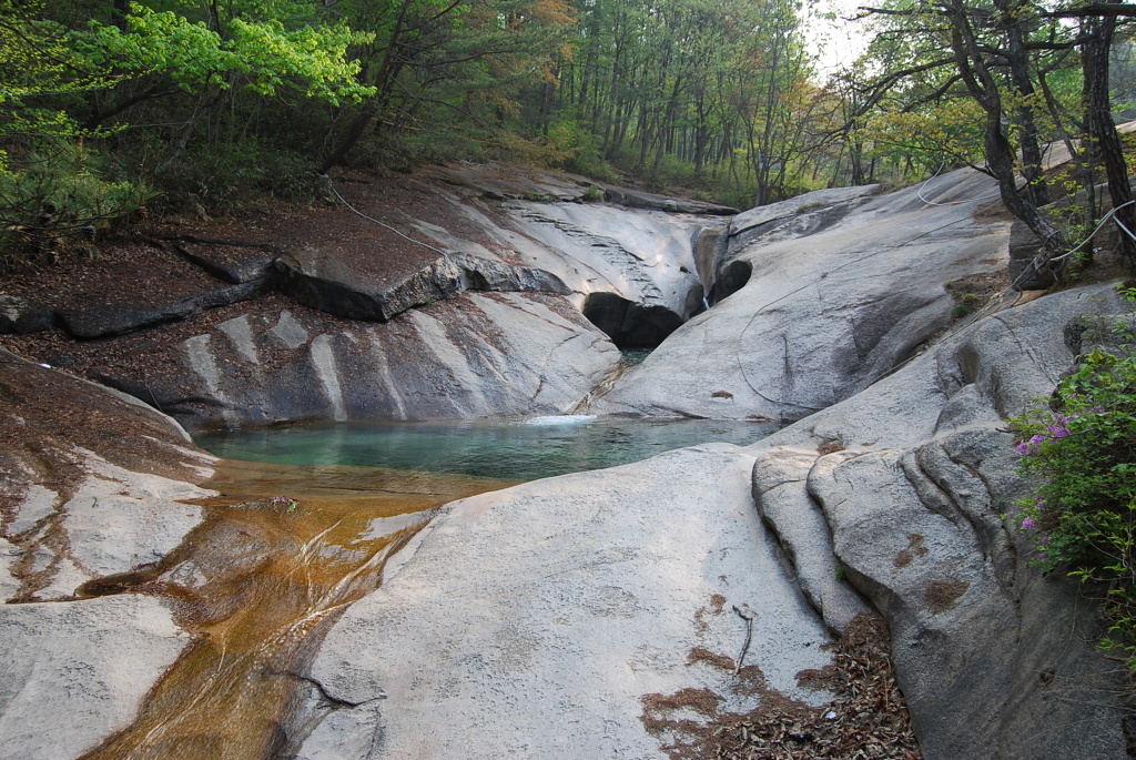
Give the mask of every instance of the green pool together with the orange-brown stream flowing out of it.
[[(80, 595), (167, 600), (192, 640), (100, 760), (286, 757), (307, 661), (382, 581), (386, 559), (446, 502), (521, 481), (708, 441), (752, 443), (753, 423), (549, 417), (308, 425), (202, 435), (227, 457), (206, 518), (161, 562)], [(302, 728), (299, 729), (302, 733)]]

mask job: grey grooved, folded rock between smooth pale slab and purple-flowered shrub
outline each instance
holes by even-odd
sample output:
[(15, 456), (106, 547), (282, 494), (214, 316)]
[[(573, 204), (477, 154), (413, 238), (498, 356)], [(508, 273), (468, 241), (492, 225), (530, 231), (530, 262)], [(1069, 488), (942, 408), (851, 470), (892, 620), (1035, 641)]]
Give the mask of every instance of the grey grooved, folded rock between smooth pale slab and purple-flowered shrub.
[(1071, 360), (1062, 327), (1108, 290), (982, 320), (847, 401), (763, 440), (754, 495), (826, 621), (887, 618), (925, 757), (1122, 758), (1126, 711), (1102, 623), (1042, 577), (1001, 515), (1025, 494), (1004, 418)]

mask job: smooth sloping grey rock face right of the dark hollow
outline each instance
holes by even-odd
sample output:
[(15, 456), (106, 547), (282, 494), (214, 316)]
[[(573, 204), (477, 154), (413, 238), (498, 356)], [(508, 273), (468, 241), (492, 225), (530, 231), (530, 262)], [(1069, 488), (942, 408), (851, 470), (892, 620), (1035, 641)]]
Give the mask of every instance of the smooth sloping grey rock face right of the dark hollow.
[(740, 216), (712, 310), (594, 409), (793, 420), (853, 395), (951, 323), (945, 283), (1004, 269), (1009, 223), (976, 216), (992, 189), (960, 170), (888, 195), (860, 189), (836, 206), (804, 195)]

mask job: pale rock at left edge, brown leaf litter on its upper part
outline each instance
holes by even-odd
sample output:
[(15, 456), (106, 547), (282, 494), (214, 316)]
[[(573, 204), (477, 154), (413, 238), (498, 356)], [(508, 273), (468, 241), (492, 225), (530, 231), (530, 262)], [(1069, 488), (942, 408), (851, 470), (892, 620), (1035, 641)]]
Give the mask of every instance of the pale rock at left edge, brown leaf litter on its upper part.
[(199, 521), (175, 500), (215, 459), (136, 400), (0, 350), (0, 734), (5, 757), (80, 757), (133, 719), (189, 643), (152, 596), (76, 601)]

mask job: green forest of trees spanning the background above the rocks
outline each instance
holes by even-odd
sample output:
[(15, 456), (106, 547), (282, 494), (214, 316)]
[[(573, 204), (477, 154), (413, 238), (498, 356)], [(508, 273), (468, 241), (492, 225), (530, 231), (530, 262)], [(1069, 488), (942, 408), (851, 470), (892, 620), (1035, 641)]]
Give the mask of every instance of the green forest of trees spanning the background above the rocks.
[(0, 257), (310, 201), (335, 166), (458, 159), (740, 208), (970, 165), (1056, 257), (1109, 203), (1133, 222), (1112, 125), (1134, 12), (884, 0), (821, 78), (800, 0), (0, 0)]

